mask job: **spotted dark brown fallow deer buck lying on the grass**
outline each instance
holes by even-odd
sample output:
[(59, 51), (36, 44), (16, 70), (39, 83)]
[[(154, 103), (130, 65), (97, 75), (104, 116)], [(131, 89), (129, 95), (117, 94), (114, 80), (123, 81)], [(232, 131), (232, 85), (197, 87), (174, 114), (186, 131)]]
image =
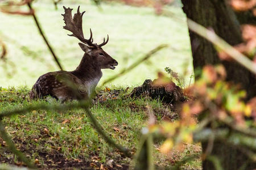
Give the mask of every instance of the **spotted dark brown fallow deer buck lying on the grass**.
[(64, 29), (71, 31), (79, 39), (80, 48), (85, 52), (79, 66), (74, 71), (55, 71), (46, 73), (38, 78), (30, 92), (30, 99), (52, 96), (61, 101), (86, 99), (90, 95), (90, 90), (96, 87), (101, 79), (101, 69), (115, 69), (118, 62), (106, 53), (102, 46), (106, 45), (108, 39), (102, 44), (93, 43), (93, 34), (90, 29), (89, 39), (84, 38), (82, 31), (82, 15), (77, 8), (77, 13), (72, 17), (72, 8), (64, 7), (65, 26)]

